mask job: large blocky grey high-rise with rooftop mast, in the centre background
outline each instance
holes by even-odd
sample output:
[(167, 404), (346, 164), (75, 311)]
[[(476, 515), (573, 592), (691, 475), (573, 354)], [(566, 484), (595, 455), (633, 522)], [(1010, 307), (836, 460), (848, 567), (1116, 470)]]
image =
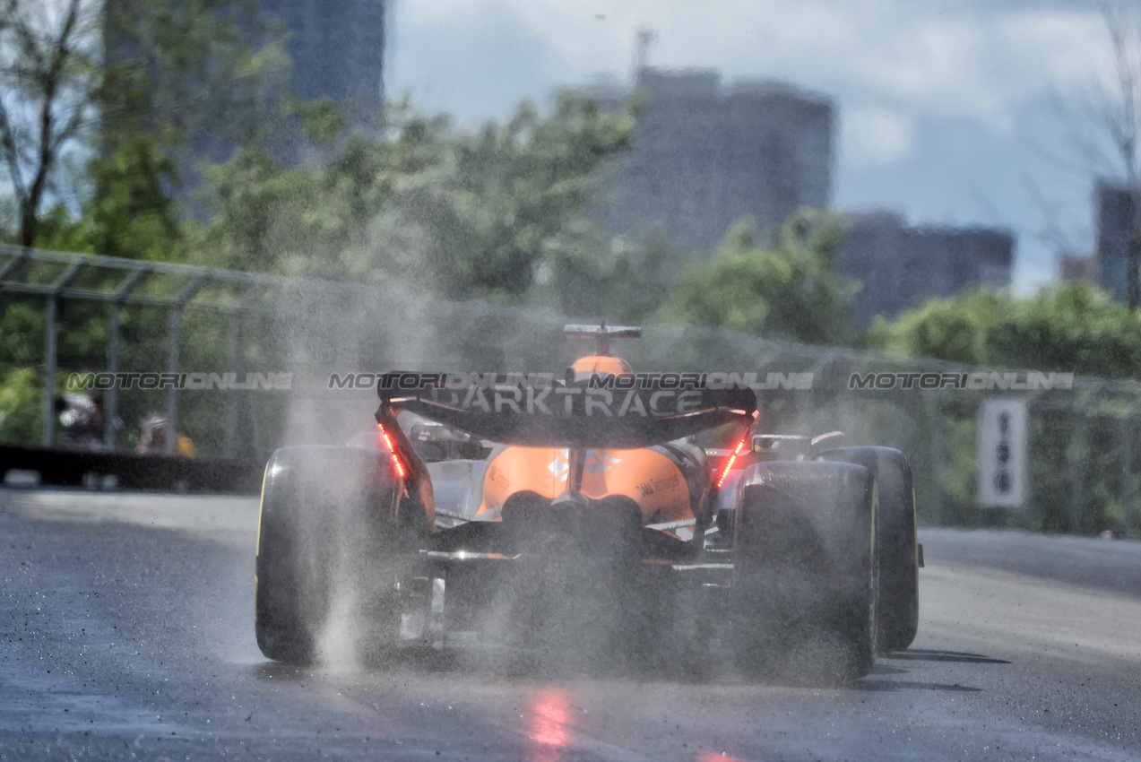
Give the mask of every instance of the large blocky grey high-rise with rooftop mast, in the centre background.
[[(637, 144), (609, 186), (612, 235), (661, 226), (712, 249), (752, 218), (761, 229), (832, 198), (833, 105), (791, 84), (722, 87), (714, 71), (639, 70)], [(596, 92), (616, 107), (629, 92)]]

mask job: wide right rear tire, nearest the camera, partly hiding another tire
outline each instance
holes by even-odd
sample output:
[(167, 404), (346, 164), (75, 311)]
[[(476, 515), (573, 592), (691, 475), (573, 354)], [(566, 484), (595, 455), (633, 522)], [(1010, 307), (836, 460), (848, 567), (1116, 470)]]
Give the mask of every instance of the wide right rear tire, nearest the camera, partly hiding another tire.
[(733, 640), (754, 678), (842, 684), (875, 663), (872, 473), (849, 463), (750, 465), (735, 511)]

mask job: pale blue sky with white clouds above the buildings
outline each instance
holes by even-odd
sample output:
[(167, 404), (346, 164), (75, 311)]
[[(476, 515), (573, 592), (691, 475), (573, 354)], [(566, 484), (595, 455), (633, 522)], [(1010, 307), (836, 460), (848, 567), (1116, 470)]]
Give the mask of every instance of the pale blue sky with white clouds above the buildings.
[[(629, 84), (650, 65), (771, 78), (831, 96), (834, 202), (1018, 236), (1015, 290), (1054, 274), (1053, 229), (1092, 248), (1092, 175), (1070, 133), (1110, 71), (1097, 3), (1078, 0), (395, 0), (390, 94), (460, 120), (502, 119), (566, 84)], [(1065, 108), (1059, 108), (1061, 104)], [(1087, 111), (1087, 110), (1086, 110)]]

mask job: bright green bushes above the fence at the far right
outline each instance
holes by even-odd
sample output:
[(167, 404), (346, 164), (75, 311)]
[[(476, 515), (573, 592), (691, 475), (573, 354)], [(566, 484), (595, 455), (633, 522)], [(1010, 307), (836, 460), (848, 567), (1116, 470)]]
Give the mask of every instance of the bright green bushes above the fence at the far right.
[(969, 365), (1138, 379), (1141, 316), (1086, 283), (1026, 299), (977, 289), (932, 299), (891, 323), (876, 318), (866, 346)]

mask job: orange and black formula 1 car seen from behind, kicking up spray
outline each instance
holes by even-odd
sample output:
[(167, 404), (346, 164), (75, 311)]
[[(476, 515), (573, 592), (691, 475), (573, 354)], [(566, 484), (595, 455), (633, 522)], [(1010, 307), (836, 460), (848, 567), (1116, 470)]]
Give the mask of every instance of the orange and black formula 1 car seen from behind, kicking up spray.
[[(633, 373), (567, 326), (553, 374), (388, 373), (364, 446), (285, 447), (261, 493), (268, 658), (419, 646), (843, 682), (919, 621), (911, 472), (758, 433), (747, 378)], [(747, 374), (745, 374), (747, 376)], [(730, 448), (697, 444), (731, 431)]]

